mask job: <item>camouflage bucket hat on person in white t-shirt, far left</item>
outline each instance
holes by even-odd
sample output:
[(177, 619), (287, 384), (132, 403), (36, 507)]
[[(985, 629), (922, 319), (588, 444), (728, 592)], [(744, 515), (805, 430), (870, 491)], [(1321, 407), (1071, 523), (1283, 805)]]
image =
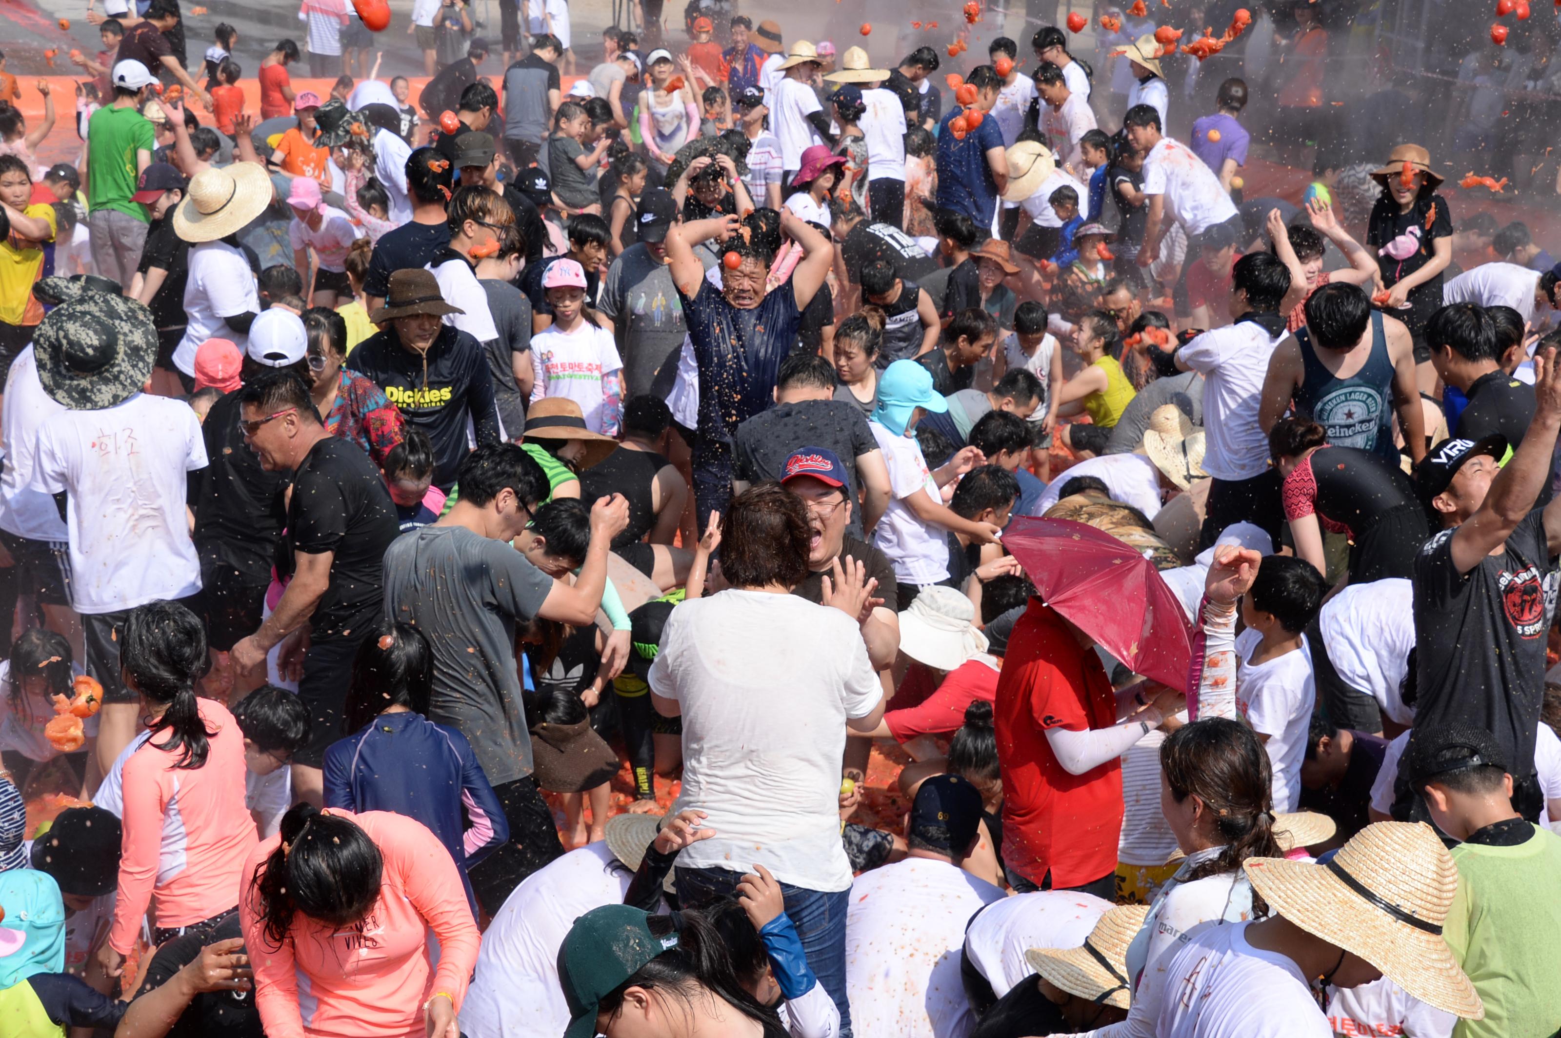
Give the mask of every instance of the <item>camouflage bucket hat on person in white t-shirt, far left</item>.
[(151, 311), (134, 300), (81, 292), (33, 334), (37, 379), (70, 411), (101, 411), (140, 392), (158, 359)]

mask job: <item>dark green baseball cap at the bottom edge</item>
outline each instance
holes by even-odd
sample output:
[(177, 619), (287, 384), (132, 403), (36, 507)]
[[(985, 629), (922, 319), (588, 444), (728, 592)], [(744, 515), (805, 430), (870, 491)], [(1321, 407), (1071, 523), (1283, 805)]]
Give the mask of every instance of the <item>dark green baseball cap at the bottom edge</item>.
[(651, 933), (651, 916), (631, 905), (603, 905), (574, 919), (559, 949), (559, 980), (570, 1007), (564, 1038), (595, 1038), (603, 997), (640, 968), (677, 947), (677, 935)]

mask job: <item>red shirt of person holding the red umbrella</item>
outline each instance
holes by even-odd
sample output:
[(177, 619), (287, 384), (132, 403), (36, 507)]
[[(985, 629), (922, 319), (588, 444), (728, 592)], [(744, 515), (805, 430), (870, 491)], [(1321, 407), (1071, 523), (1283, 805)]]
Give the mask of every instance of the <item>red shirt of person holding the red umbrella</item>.
[(1111, 681), (1093, 649), (1041, 599), (1008, 637), (993, 707), (1002, 762), (1002, 858), (1041, 885), (1082, 887), (1116, 868), (1122, 830), (1122, 762), (1069, 774), (1046, 729), (1069, 732), (1116, 724)]

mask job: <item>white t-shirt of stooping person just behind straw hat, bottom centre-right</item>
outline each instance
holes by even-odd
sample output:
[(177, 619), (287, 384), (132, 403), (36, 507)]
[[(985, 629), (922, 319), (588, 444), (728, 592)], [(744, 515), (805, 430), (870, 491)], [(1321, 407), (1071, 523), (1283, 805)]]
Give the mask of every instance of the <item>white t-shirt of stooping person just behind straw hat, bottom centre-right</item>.
[(1037, 890), (994, 901), (965, 930), (965, 954), (1001, 999), (1033, 969), (1032, 947), (1080, 947), (1111, 908), (1094, 894)]

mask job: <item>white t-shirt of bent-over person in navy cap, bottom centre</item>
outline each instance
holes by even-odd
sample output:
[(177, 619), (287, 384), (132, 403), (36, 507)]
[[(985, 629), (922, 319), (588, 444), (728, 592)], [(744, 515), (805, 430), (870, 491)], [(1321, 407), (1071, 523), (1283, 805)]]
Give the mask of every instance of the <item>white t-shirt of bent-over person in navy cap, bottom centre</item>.
[(976, 1013), (960, 982), (965, 924), (1002, 898), (997, 887), (930, 858), (905, 858), (859, 876), (846, 908), (852, 1033), (968, 1035)]

